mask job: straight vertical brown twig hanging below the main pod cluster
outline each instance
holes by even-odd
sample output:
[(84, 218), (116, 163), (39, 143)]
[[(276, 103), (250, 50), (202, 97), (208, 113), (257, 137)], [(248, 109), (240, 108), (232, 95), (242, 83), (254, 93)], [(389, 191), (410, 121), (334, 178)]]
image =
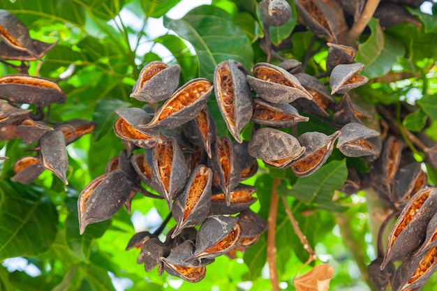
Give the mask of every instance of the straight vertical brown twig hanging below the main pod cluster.
[(269, 209), (269, 230), (267, 232), (267, 262), (269, 264), (270, 271), (270, 283), (272, 284), (273, 291), (279, 291), (278, 282), (278, 269), (276, 268), (276, 214), (278, 212), (279, 196), (276, 192), (276, 188), (281, 183), (281, 179), (273, 179), (272, 185), (272, 197), (270, 197), (270, 209)]

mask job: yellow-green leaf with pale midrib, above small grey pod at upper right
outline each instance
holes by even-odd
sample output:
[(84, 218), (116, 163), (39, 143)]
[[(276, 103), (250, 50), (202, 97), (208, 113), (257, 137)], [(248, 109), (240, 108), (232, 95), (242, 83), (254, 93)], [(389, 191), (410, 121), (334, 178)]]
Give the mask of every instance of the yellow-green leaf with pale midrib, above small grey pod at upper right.
[(405, 47), (396, 39), (383, 33), (379, 21), (372, 18), (369, 22), (371, 35), (358, 46), (355, 61), (366, 65), (361, 74), (369, 77), (380, 77), (392, 69), (398, 57), (403, 57)]

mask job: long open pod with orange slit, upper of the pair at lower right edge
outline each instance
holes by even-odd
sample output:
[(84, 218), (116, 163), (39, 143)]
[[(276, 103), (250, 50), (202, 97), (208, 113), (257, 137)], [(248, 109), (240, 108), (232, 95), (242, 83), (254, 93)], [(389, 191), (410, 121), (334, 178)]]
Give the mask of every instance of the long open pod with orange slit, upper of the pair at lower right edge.
[(422, 244), (427, 225), (436, 214), (436, 203), (437, 188), (424, 188), (411, 198), (392, 227), (381, 269), (392, 260), (401, 260)]

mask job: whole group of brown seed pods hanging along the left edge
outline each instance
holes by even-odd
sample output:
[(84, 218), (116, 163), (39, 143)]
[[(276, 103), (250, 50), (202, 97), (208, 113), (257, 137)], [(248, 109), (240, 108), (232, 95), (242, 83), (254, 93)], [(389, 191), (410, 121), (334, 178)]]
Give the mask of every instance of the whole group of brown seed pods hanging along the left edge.
[[(36, 61), (56, 43), (31, 39), (27, 27), (6, 10), (0, 10), (0, 58), (4, 61)], [(20, 68), (25, 68), (22, 66)], [(52, 103), (62, 104), (66, 95), (52, 80), (33, 77), (26, 72), (0, 77), (0, 140), (20, 137), (33, 156), (15, 161), (13, 181), (29, 184), (45, 169), (68, 184), (66, 146), (82, 135), (91, 133), (96, 124), (72, 119), (54, 124), (49, 120)], [(24, 109), (31, 108), (34, 109)]]

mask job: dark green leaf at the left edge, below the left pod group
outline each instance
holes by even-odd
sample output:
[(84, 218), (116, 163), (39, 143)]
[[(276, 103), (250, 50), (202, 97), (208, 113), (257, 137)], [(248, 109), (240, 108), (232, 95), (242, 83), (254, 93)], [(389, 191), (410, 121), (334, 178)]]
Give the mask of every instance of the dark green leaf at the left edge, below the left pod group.
[(0, 261), (38, 255), (52, 245), (58, 214), (43, 189), (2, 181), (0, 186)]

